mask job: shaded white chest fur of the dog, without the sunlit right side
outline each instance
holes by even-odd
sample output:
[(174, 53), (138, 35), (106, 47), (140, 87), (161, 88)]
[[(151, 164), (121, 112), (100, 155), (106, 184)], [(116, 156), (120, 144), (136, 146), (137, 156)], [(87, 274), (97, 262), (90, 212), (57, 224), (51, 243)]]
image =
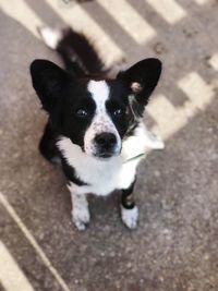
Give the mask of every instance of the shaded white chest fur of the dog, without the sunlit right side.
[(106, 196), (117, 187), (122, 166), (120, 156), (99, 160), (86, 155), (80, 146), (73, 144), (68, 137), (61, 137), (57, 145), (68, 163), (75, 169), (78, 179), (88, 184), (77, 186), (71, 183), (72, 192), (76, 194), (94, 193), (99, 196)]

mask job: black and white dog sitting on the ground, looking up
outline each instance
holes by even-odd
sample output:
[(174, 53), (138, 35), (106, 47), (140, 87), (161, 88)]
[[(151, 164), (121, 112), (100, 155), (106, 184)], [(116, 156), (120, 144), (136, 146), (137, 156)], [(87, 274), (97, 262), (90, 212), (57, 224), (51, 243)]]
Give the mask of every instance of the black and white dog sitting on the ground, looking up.
[[(39, 149), (51, 162), (61, 159), (77, 229), (89, 222), (87, 194), (122, 191), (121, 217), (135, 228), (133, 199), (136, 167), (150, 147), (143, 113), (156, 87), (161, 62), (144, 59), (108, 78), (88, 40), (72, 29), (39, 29), (44, 41), (63, 58), (66, 70), (48, 60), (31, 64), (33, 86), (48, 112)], [(160, 140), (152, 147), (161, 148)]]

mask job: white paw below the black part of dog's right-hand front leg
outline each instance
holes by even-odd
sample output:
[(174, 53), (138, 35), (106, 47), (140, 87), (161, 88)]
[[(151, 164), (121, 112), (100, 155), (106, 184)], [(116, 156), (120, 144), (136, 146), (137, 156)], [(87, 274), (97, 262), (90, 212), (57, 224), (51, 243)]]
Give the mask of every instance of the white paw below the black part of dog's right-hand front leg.
[(123, 223), (129, 229), (135, 229), (137, 227), (137, 221), (138, 221), (137, 206), (134, 206), (132, 209), (126, 209), (123, 206), (121, 206), (121, 217), (122, 217)]

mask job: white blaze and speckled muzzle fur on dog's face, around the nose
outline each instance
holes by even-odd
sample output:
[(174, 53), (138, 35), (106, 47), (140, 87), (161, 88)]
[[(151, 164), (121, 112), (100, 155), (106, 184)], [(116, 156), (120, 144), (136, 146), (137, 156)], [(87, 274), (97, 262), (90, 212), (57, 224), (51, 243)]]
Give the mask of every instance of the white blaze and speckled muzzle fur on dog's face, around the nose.
[(95, 136), (100, 133), (112, 133), (117, 138), (117, 147), (114, 154), (119, 154), (121, 150), (121, 138), (106, 109), (106, 101), (108, 100), (110, 94), (109, 86), (105, 81), (90, 81), (88, 83), (87, 89), (92, 94), (92, 98), (96, 104), (96, 112), (84, 136), (85, 151), (88, 155), (95, 155)]

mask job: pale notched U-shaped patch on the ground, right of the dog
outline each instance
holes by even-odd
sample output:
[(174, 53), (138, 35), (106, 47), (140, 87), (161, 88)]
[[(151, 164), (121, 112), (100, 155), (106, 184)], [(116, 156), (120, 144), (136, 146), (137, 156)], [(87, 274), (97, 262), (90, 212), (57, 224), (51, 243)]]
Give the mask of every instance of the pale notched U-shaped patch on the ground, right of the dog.
[(185, 126), (201, 110), (204, 111), (215, 96), (213, 87), (196, 72), (185, 75), (178, 86), (189, 98), (182, 108), (174, 108), (164, 95), (158, 95), (147, 107), (147, 112), (157, 123), (152, 131), (159, 133), (164, 140)]

